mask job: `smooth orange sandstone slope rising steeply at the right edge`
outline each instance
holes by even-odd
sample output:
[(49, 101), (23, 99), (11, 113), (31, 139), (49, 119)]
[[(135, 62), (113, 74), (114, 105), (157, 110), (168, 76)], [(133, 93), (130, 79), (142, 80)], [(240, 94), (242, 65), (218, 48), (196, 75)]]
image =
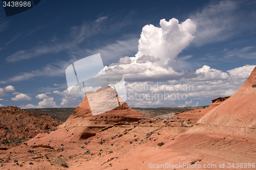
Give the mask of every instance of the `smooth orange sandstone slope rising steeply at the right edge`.
[(256, 127), (256, 67), (244, 85), (225, 102), (203, 116), (198, 124)]

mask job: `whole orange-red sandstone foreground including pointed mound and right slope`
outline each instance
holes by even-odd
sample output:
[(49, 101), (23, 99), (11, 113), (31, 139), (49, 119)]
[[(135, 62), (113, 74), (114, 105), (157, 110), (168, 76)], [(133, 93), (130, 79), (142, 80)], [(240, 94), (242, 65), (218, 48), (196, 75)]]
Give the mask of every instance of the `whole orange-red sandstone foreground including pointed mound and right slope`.
[(255, 169), (254, 84), (256, 67), (230, 98), (214, 99), (205, 109), (168, 120), (149, 119), (125, 102), (93, 116), (85, 96), (50, 133), (1, 148), (0, 169)]

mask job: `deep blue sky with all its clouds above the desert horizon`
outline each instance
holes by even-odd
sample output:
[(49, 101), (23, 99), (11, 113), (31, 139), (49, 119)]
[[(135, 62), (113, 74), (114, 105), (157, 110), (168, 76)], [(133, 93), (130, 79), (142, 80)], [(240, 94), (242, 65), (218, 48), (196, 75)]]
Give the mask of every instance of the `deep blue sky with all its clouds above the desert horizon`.
[[(255, 1), (50, 1), (0, 8), (0, 107), (77, 107), (66, 68), (100, 53), (130, 107), (209, 105), (256, 66)], [(102, 87), (103, 88), (103, 87)]]

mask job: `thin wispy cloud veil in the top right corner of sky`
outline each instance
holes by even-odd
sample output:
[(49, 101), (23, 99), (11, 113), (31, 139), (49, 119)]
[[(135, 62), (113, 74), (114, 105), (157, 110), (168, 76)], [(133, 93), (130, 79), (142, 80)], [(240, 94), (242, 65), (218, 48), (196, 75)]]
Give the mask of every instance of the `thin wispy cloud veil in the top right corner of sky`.
[(190, 14), (189, 17), (197, 26), (194, 44), (201, 46), (224, 41), (239, 33), (254, 30), (256, 23), (250, 21), (255, 20), (256, 15), (241, 8), (249, 5), (245, 1), (213, 1), (202, 10)]

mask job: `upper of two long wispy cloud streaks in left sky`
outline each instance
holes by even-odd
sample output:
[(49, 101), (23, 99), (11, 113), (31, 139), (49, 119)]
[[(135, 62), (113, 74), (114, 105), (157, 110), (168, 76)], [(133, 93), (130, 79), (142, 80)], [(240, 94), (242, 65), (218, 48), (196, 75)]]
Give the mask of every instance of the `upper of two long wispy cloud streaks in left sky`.
[[(71, 27), (70, 33), (66, 35), (66, 42), (53, 43), (53, 41), (51, 41), (49, 42), (49, 44), (35, 46), (28, 50), (17, 51), (14, 54), (8, 56), (6, 58), (6, 61), (16, 62), (21, 60), (27, 60), (27, 59), (38, 57), (40, 55), (44, 55), (44, 54), (56, 54), (65, 50), (67, 50), (67, 52), (73, 53), (80, 50), (80, 47), (78, 47), (78, 45), (84, 42), (85, 39), (92, 37), (94, 35), (97, 35), (99, 33), (102, 34), (102, 30), (104, 30), (104, 32), (106, 32), (106, 30), (108, 30), (107, 32), (112, 32), (120, 27), (125, 26), (123, 22), (115, 22), (113, 25), (112, 24), (106, 25), (105, 23), (100, 22), (106, 18), (108, 18), (108, 16), (98, 18), (97, 20), (99, 21), (97, 22), (88, 21), (88, 22), (83, 22), (82, 25), (80, 26)], [(35, 28), (29, 34), (32, 34), (34, 31), (39, 29), (41, 29), (41, 27)], [(0, 27), (0, 31), (1, 31), (1, 27)], [(15, 35), (9, 42), (6, 43), (6, 45), (16, 40), (18, 37), (20, 37), (20, 34)], [(122, 43), (122, 41), (120, 43)], [(90, 52), (88, 51), (88, 53)]]

